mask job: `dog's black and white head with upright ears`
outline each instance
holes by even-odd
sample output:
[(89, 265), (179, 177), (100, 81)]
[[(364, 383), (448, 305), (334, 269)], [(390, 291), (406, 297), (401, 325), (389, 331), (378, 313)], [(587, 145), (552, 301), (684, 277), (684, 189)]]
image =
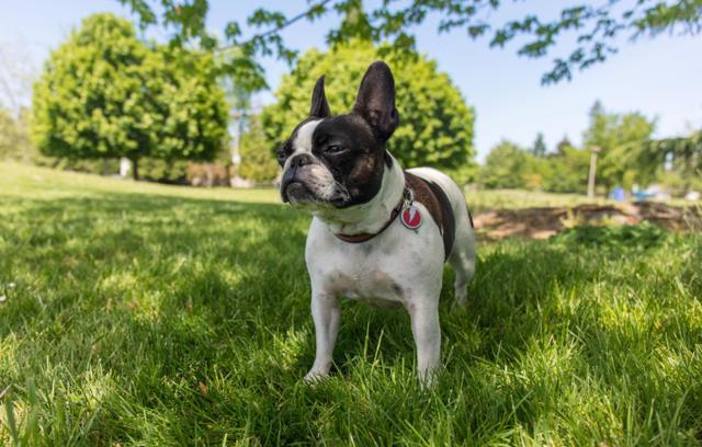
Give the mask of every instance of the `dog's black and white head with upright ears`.
[(395, 81), (385, 62), (369, 67), (346, 115), (331, 115), (320, 77), (309, 116), (278, 150), (283, 202), (315, 209), (371, 200), (381, 188), (385, 164), (389, 165), (385, 144), (398, 124)]

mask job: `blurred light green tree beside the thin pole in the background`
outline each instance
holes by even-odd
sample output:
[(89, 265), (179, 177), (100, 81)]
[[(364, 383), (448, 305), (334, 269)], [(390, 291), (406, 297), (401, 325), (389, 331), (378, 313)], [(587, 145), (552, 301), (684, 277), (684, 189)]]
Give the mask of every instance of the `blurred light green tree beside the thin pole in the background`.
[(590, 125), (582, 137), (585, 149), (599, 147), (597, 181), (608, 188), (634, 183), (646, 184), (654, 180), (635, 162), (637, 148), (650, 139), (656, 123), (638, 112), (607, 113), (600, 102), (590, 110)]

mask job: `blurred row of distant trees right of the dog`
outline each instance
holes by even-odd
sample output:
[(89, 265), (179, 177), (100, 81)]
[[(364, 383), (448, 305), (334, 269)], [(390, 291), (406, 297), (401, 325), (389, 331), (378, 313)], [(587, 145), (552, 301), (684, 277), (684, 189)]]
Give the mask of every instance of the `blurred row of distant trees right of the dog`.
[(488, 188), (523, 188), (554, 193), (587, 190), (591, 149), (597, 148), (597, 184), (601, 194), (616, 186), (631, 190), (658, 184), (676, 195), (702, 187), (702, 138), (653, 140), (655, 119), (638, 112), (613, 113), (596, 102), (582, 148), (567, 138), (543, 150), (540, 136), (529, 148), (502, 141), (488, 153), (479, 183)]

